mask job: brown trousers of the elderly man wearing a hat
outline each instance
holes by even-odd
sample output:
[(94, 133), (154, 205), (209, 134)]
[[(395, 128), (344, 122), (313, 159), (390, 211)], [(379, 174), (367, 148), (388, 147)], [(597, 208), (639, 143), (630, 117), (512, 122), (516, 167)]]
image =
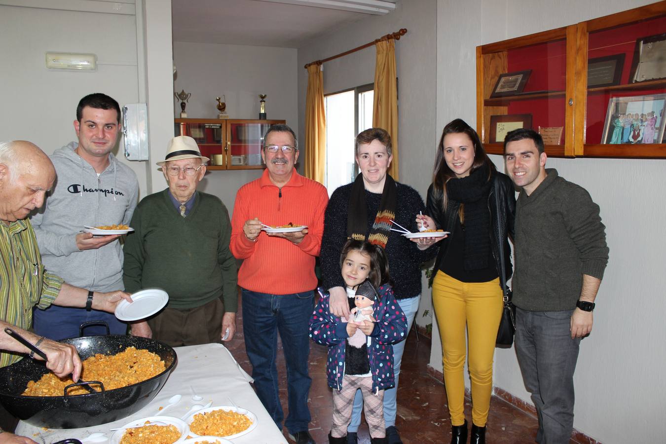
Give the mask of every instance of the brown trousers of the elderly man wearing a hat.
[(153, 339), (171, 347), (219, 342), (222, 333), (224, 304), (217, 298), (200, 307), (178, 310), (165, 308), (148, 325)]

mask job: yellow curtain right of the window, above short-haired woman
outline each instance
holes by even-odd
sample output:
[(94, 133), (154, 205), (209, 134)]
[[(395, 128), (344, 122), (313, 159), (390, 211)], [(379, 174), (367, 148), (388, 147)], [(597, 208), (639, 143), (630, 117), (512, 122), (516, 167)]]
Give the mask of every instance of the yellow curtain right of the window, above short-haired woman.
[(396, 76), (396, 44), (394, 39), (378, 41), (375, 66), (372, 126), (384, 128), (391, 135), (393, 161), (388, 170), (398, 180), (398, 83)]

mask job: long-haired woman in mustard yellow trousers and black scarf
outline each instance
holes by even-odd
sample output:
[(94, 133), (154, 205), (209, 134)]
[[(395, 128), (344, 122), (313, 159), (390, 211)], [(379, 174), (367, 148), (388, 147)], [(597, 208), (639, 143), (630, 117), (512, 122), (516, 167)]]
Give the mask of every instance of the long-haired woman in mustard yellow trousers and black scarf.
[(513, 237), (515, 192), (511, 179), (498, 172), (486, 155), (476, 131), (460, 118), (444, 126), (433, 183), (428, 188), (427, 214), (417, 216), (426, 228), (450, 232), (435, 261), (432, 305), (442, 336), (451, 443), (467, 442), (463, 368), (469, 349), (470, 442), (481, 444), (486, 442), (493, 354), (502, 310), (500, 242), (508, 279), (511, 259), (507, 235)]

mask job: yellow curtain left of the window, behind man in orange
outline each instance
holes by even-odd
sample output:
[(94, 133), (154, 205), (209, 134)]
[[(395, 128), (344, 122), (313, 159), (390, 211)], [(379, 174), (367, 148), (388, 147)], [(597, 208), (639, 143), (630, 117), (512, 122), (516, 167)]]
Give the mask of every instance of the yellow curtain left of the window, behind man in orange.
[(320, 65), (308, 67), (308, 95), (305, 102), (305, 176), (324, 184), (326, 163), (326, 114), (324, 77)]

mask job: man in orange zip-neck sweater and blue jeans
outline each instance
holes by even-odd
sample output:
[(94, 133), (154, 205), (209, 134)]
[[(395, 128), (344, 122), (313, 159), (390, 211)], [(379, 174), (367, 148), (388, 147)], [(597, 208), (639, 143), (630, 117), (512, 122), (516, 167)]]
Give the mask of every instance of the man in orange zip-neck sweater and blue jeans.
[[(312, 382), (308, 320), (314, 308), (314, 260), (321, 246), (328, 193), (318, 182), (296, 172), (298, 146), (289, 126), (276, 124), (268, 129), (261, 156), (266, 170), (238, 190), (231, 220), (231, 252), (243, 260), (238, 285), (242, 288), (245, 349), (256, 393), (282, 429), (284, 413), (275, 365), (276, 333), (280, 333), (289, 397), (284, 425), (297, 444), (309, 444), (314, 440), (308, 433)], [(264, 224), (282, 228), (266, 232)]]

